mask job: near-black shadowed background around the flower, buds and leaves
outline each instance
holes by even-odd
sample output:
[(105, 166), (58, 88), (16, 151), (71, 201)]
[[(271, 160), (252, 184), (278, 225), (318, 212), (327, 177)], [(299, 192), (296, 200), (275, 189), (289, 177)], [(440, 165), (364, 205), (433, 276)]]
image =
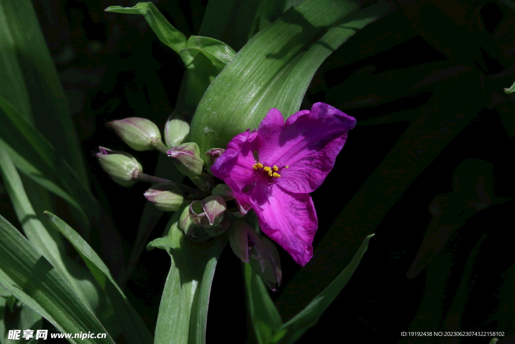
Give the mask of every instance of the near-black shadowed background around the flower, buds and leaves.
[[(207, 2), (154, 3), (186, 36), (197, 34)], [(69, 101), (93, 192), (116, 224), (127, 261), (146, 202), (143, 192), (149, 185), (118, 186), (99, 168), (94, 153), (98, 145), (128, 151), (142, 162), (146, 173), (152, 174), (158, 153), (130, 150), (105, 123), (144, 117), (163, 128), (177, 101), (184, 73), (182, 61), (157, 39), (142, 16), (103, 11), (108, 6), (129, 7), (135, 2), (37, 0), (33, 4)], [(401, 331), (452, 329), (449, 312), (453, 300), (462, 304), (455, 315), (459, 320), (454, 323), (461, 331), (505, 331), (508, 336), (515, 330), (510, 320), (515, 300), (513, 201), (492, 205), (477, 214), (462, 214), (464, 225), (450, 233), (426, 269), (413, 279), (406, 276), (432, 219), (428, 207), (437, 194), (453, 191), (453, 173), (462, 161), (474, 158), (491, 163), (492, 194), (512, 198), (513, 133), (508, 118), (513, 114), (512, 98), (504, 95), (502, 88), (515, 80), (511, 70), (514, 13), (499, 2), (456, 2), (449, 8), (441, 2), (414, 4), (396, 3), (397, 9), (386, 18), (342, 45), (323, 63), (307, 91), (302, 109), (322, 101), (358, 120), (334, 170), (312, 194), (319, 218), (314, 244), (320, 242), (339, 211), (381, 163), (412, 117), (418, 117), (427, 107), (444, 111), (459, 102), (464, 108), (470, 107), (469, 102), (479, 105), (465, 129), (415, 179), (376, 228), (351, 281), (318, 324), (299, 340), (301, 343), (330, 336), (341, 341), (440, 342), (442, 338), (402, 338)], [(473, 13), (474, 21), (460, 22), (462, 8)], [(450, 24), (445, 24), (449, 20)], [(430, 24), (424, 26), (427, 22)], [(453, 41), (456, 36), (446, 37), (449, 31), (445, 30), (454, 27), (472, 32), (476, 39), (473, 45), (479, 47), (478, 59), (460, 46), (461, 41)], [(467, 70), (453, 74), (451, 65), (463, 65)], [(417, 86), (436, 71), (443, 72), (427, 81), (427, 87)], [(477, 84), (477, 93), (466, 87), (470, 84)], [(373, 118), (379, 118), (379, 124), (360, 124)], [(372, 213), (373, 209), (359, 211)], [(168, 215), (163, 216), (150, 239), (162, 235), (167, 219)], [(74, 225), (72, 218), (66, 221)], [(346, 250), (345, 237), (342, 234), (335, 243), (342, 251)], [(478, 242), (477, 254), (471, 256)], [(92, 245), (102, 252), (95, 233)], [(272, 298), (278, 301), (283, 320), (287, 320), (310, 301), (315, 290), (303, 290), (296, 284), (294, 293), (283, 296), (283, 291), (291, 292), (288, 284), (300, 267), (285, 252), (281, 252), (281, 258), (283, 286), (272, 293)], [(124, 264), (122, 259), (105, 259), (113, 271), (120, 271)], [(470, 276), (464, 286), (462, 278), (468, 263)], [(145, 251), (126, 284), (127, 297), (152, 332), (168, 268), (164, 251)], [(319, 271), (311, 284), (320, 288), (336, 273), (323, 265), (311, 269)], [(456, 299), (459, 290), (466, 290), (465, 297)], [(434, 299), (427, 299), (431, 295)], [(207, 342), (251, 341), (251, 326), (244, 315), (241, 265), (226, 248), (214, 277)], [(123, 342), (123, 338), (117, 340)], [(450, 340), (487, 343), (490, 337)], [(508, 337), (504, 340), (508, 342)]]

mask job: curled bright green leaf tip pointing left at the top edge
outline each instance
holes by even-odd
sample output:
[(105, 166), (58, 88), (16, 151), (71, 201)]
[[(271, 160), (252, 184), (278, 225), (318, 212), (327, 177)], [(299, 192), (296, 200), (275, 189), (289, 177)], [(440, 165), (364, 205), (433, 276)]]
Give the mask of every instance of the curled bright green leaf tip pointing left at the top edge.
[(186, 47), (186, 36), (173, 27), (152, 3), (138, 3), (134, 7), (109, 6), (106, 12), (142, 14), (161, 42), (177, 54)]

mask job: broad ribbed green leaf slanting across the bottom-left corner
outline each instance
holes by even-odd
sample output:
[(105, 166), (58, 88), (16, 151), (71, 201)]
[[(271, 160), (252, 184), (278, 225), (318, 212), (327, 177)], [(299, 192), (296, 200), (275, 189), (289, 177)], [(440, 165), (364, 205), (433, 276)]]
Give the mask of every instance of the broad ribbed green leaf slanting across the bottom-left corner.
[[(0, 216), (0, 283), (17, 299), (45, 317), (62, 333), (87, 330), (107, 333), (56, 269)], [(72, 343), (112, 343), (104, 339), (70, 338)]]

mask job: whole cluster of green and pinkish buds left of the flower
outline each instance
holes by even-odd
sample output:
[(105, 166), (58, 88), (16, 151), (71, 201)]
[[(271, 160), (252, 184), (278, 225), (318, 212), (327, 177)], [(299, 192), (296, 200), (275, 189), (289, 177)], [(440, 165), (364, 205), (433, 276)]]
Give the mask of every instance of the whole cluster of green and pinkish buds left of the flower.
[[(144, 193), (145, 198), (163, 211), (180, 210), (178, 227), (187, 238), (205, 241), (227, 233), (234, 253), (250, 263), (270, 289), (277, 289), (281, 283), (281, 265), (274, 243), (237, 219), (248, 209), (234, 198), (229, 186), (217, 184), (211, 174), (211, 166), (224, 149), (210, 149), (202, 156), (197, 143), (187, 142), (190, 126), (174, 116), (166, 122), (166, 145), (158, 126), (150, 120), (127, 118), (107, 125), (136, 151), (156, 149), (165, 153), (197, 188), (144, 174), (141, 164), (132, 155), (100, 147), (96, 157), (115, 182), (123, 186), (136, 181), (157, 183)], [(227, 202), (235, 206), (228, 209)], [(189, 204), (183, 206), (184, 203)]]

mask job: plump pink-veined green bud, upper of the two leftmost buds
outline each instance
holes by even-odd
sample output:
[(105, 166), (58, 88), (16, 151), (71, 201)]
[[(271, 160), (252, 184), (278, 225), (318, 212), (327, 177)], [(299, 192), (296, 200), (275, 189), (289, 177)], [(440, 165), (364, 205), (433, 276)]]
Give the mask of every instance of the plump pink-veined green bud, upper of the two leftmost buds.
[(166, 152), (158, 126), (146, 118), (130, 117), (109, 122), (107, 125), (136, 151), (158, 149)]

